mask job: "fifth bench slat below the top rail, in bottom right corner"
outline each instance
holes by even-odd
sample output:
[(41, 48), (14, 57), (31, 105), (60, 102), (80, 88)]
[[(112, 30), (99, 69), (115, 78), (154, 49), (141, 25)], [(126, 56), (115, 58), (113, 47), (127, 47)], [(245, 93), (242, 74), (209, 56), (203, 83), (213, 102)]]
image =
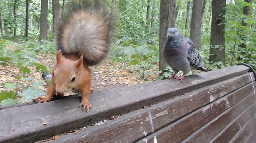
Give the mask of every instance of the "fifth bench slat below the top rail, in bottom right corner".
[[(229, 143), (245, 143), (246, 138), (255, 129), (256, 114), (237, 132), (237, 134), (229, 141)], [(256, 136), (256, 135), (254, 135)]]

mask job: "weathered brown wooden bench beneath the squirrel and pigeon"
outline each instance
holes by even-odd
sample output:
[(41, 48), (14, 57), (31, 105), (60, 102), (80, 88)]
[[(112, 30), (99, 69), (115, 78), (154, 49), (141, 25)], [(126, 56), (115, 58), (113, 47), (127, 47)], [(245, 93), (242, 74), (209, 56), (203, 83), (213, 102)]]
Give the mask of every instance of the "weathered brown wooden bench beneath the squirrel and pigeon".
[(79, 96), (2, 106), (0, 143), (54, 135), (60, 137), (47, 142), (256, 143), (255, 89), (252, 70), (235, 65), (186, 76), (183, 83), (167, 79), (96, 91), (88, 113), (78, 108)]

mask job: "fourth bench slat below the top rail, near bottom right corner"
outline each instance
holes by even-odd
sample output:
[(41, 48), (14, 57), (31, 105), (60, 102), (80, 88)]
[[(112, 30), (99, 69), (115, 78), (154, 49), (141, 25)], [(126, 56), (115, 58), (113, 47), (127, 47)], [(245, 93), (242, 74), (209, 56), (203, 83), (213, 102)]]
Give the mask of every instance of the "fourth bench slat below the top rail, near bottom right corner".
[(229, 125), (227, 125), (216, 137), (209, 143), (228, 143), (233, 136), (250, 120), (256, 113), (256, 102), (244, 110)]

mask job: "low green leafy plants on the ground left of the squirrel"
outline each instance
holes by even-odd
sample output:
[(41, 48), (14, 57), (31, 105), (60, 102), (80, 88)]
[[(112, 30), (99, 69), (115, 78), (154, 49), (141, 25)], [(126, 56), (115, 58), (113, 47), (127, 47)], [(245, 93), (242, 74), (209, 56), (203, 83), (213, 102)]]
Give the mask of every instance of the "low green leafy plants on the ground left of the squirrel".
[[(5, 82), (1, 86), (4, 90), (0, 92), (0, 104), (7, 105), (19, 102), (18, 97), (23, 97), (24, 101), (31, 100), (38, 95), (44, 95), (39, 87), (44, 83), (37, 81), (34, 78), (26, 78), (31, 73), (28, 67), (34, 67), (36, 71), (49, 70), (37, 60), (37, 54), (51, 53), (54, 50), (52, 42), (35, 42), (35, 41), (22, 41), (22, 43), (12, 42), (6, 39), (0, 40), (0, 64), (10, 65), (17, 67), (19, 73), (15, 79), (16, 83)], [(22, 85), (19, 81), (30, 81), (31, 85)]]

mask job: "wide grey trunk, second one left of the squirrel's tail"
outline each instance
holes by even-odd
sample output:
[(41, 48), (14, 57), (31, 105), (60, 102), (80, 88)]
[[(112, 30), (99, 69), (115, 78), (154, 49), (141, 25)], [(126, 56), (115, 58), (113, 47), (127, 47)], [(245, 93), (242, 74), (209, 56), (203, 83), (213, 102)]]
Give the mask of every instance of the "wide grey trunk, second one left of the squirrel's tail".
[(41, 14), (40, 14), (40, 35), (39, 40), (47, 39), (47, 12), (48, 0), (41, 0)]

